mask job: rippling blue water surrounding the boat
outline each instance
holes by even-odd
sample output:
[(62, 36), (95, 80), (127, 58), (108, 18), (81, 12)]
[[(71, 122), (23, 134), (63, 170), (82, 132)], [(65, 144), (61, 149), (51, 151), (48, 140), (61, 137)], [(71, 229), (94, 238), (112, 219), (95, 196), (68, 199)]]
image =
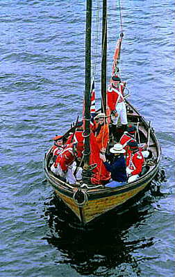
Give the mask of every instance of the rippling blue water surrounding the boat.
[[(147, 193), (88, 230), (67, 223), (72, 216), (45, 181), (42, 159), (82, 113), (85, 1), (1, 0), (2, 277), (174, 276), (174, 1), (121, 5), (121, 75), (160, 141), (165, 195)], [(120, 21), (117, 1), (108, 6), (110, 78)]]

